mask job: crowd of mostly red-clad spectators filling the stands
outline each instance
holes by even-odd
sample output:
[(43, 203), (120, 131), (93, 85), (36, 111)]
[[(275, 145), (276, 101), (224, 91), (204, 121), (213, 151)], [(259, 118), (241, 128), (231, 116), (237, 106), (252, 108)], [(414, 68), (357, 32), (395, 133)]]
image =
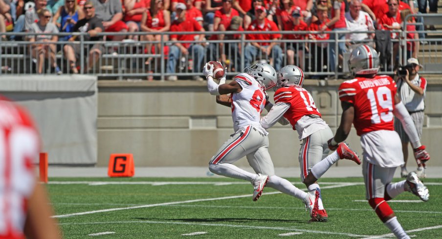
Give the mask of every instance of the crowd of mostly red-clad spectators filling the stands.
[[(251, 42), (244, 48), (244, 64), (250, 65), (254, 60), (266, 55), (276, 70), (283, 66), (283, 56), (287, 64), (305, 67), (305, 55), (315, 56), (315, 65), (311, 71), (342, 71), (343, 56), (354, 47), (368, 43), (374, 47), (382, 44), (376, 42), (375, 34), (327, 33), (347, 31), (393, 31), (383, 37), (399, 38), (394, 30), (400, 30), (406, 19), (411, 23), (420, 18), (406, 18), (409, 14), (427, 12), (426, 0), (0, 0), (0, 36), (2, 41), (29, 40), (32, 57), (37, 60), (37, 73), (43, 72), (44, 59), (50, 59), (52, 67), (61, 73), (55, 60), (55, 53), (64, 51), (70, 72), (78, 73), (77, 59), (82, 49), (78, 45), (66, 44), (63, 47), (53, 44), (58, 40), (75, 41), (74, 36), (34, 35), (30, 37), (1, 33), (30, 32), (87, 32), (88, 41), (121, 41), (124, 39), (164, 41), (172, 44), (160, 48), (160, 44), (148, 43), (144, 53), (152, 54), (160, 49), (167, 55), (166, 72), (174, 73), (182, 55), (192, 56), (194, 72), (200, 72), (202, 61), (209, 49), (210, 60), (220, 60), (233, 70), (240, 71), (243, 66), (239, 54), (240, 44), (219, 43), (205, 44), (205, 40), (238, 40), (240, 34), (210, 34), (213, 31), (257, 31), (263, 33), (247, 34), (246, 40), (288, 40), (278, 42)], [(429, 11), (437, 12), (437, 0), (429, 0)], [(421, 31), (424, 24), (407, 24), (407, 31)], [(418, 29), (416, 29), (416, 27)], [(432, 28), (432, 26), (429, 26)], [(199, 31), (199, 35), (161, 35), (160, 32)], [(280, 34), (268, 34), (267, 31), (279, 31)], [(284, 31), (313, 31), (312, 34), (284, 34)], [(100, 32), (146, 32), (144, 35), (107, 36), (97, 35)], [(376, 33), (377, 34), (377, 33)], [(379, 33), (382, 34), (382, 33)], [(290, 43), (290, 40), (333, 40), (337, 36), (338, 52), (333, 42), (304, 44)], [(420, 41), (407, 42), (408, 57), (417, 58), (419, 45), (425, 43), (424, 34), (410, 33), (406, 36)], [(170, 39), (169, 39), (170, 38)], [(174, 41), (196, 40), (204, 43), (179, 43)], [(52, 42), (52, 43), (51, 43)], [(393, 56), (397, 56), (399, 44), (393, 44)], [(105, 49), (95, 44), (86, 56), (86, 71), (90, 69)], [(117, 51), (117, 50), (115, 50)], [(116, 52), (117, 53), (117, 52)], [(284, 54), (285, 55), (284, 55)], [(382, 54), (382, 53), (381, 53)], [(337, 55), (337, 56), (336, 56)], [(407, 57), (407, 58), (408, 58)], [(148, 58), (149, 65), (154, 61)], [(336, 64), (335, 60), (339, 60)], [(335, 65), (339, 69), (335, 69)], [(329, 68), (328, 68), (329, 67)], [(169, 74), (168, 80), (177, 80)], [(202, 80), (195, 76), (194, 80)]]

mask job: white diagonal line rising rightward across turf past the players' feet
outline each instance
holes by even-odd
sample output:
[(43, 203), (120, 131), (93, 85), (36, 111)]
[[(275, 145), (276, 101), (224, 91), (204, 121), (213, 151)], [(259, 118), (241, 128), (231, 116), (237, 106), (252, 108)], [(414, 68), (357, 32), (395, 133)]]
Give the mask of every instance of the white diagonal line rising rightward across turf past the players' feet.
[[(343, 184), (338, 184), (338, 185), (325, 186), (325, 187), (322, 187), (322, 189), (338, 188), (338, 187), (353, 186), (353, 185), (354, 185), (353, 183), (343, 183)], [(264, 195), (280, 194), (280, 193), (281, 192), (270, 192), (270, 193), (264, 193)], [(174, 205), (174, 204), (182, 204), (182, 203), (190, 203), (190, 202), (199, 202), (199, 201), (238, 199), (238, 198), (246, 198), (246, 197), (250, 197), (250, 196), (251, 196), (250, 194), (247, 194), (247, 195), (238, 195), (238, 196), (229, 196), (229, 197), (221, 197), (221, 198), (211, 198), (211, 199), (193, 199), (193, 200), (185, 200), (185, 201), (172, 201), (172, 202), (146, 204), (146, 205), (131, 206), (131, 207), (119, 207), (119, 208), (109, 208), (109, 209), (94, 210), (94, 211), (87, 211), (87, 212), (80, 212), (80, 213), (70, 213), (70, 214), (52, 216), (52, 218), (68, 218), (68, 217), (72, 217), (72, 216), (88, 215), (88, 214), (94, 214), (94, 213), (104, 213), (104, 212), (139, 209), (139, 208), (146, 208), (146, 207), (166, 206), (166, 205)]]

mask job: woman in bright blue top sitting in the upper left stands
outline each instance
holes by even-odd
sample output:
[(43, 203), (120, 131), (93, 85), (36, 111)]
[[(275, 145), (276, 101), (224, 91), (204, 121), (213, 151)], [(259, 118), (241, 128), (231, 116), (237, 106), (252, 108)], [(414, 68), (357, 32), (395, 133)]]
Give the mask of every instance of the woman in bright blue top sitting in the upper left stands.
[[(59, 22), (61, 18), (61, 22)], [(60, 32), (72, 32), (78, 20), (85, 18), (83, 9), (77, 5), (77, 0), (65, 0), (65, 5), (61, 6), (52, 18), (52, 23), (58, 26)], [(59, 40), (66, 41), (71, 36), (61, 36)]]

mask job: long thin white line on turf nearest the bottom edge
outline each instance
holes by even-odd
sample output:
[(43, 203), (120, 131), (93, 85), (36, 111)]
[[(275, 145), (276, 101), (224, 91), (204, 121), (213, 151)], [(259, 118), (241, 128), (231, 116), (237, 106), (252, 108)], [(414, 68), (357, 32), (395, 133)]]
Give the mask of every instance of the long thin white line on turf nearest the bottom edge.
[(279, 231), (295, 231), (295, 232), (305, 232), (305, 233), (317, 233), (317, 234), (327, 234), (327, 235), (342, 235), (348, 237), (369, 237), (367, 235), (358, 235), (352, 233), (340, 233), (340, 232), (326, 232), (326, 231), (315, 231), (306, 229), (297, 229), (294, 227), (269, 227), (269, 226), (247, 226), (247, 225), (230, 225), (230, 224), (217, 224), (217, 223), (197, 223), (197, 222), (177, 222), (177, 221), (103, 221), (103, 222), (72, 222), (72, 223), (59, 223), (59, 225), (89, 225), (89, 224), (122, 224), (122, 223), (151, 223), (151, 224), (181, 224), (181, 225), (193, 225), (193, 226), (214, 226), (214, 227), (235, 227), (244, 229), (264, 229), (264, 230), (279, 230)]

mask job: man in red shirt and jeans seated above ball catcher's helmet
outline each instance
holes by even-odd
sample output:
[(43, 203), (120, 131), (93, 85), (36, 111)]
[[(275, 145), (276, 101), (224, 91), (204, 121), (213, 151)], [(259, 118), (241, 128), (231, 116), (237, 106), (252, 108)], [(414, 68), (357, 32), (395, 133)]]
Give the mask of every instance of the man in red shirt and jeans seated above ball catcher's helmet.
[[(247, 31), (256, 31), (256, 32), (268, 32), (268, 31), (279, 31), (278, 26), (275, 22), (268, 20), (266, 18), (267, 11), (264, 6), (257, 6), (255, 8), (255, 18), (256, 20), (252, 21)], [(280, 34), (247, 34), (247, 40), (278, 40), (281, 38)], [(278, 45), (278, 42), (251, 42), (250, 45), (245, 47), (244, 51), (244, 64), (251, 65), (253, 60), (257, 56), (261, 56), (259, 54), (264, 53), (266, 56), (270, 56), (272, 54), (272, 59), (274, 61), (274, 68), (276, 71), (279, 71), (282, 66), (283, 61), (283, 51), (281, 47)]]

